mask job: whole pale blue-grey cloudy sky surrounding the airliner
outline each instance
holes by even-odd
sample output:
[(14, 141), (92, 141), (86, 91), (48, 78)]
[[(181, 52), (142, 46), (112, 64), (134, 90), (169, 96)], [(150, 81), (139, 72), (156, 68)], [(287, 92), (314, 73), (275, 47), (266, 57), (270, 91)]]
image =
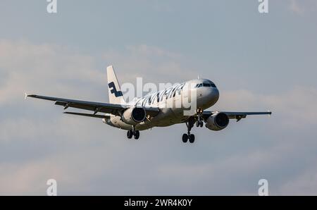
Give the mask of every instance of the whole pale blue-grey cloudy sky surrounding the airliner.
[[(0, 1), (0, 194), (317, 194), (317, 4), (258, 1)], [(108, 101), (106, 66), (121, 83), (220, 89), (211, 109), (273, 111), (213, 132), (185, 125), (141, 132), (64, 116), (24, 92)]]

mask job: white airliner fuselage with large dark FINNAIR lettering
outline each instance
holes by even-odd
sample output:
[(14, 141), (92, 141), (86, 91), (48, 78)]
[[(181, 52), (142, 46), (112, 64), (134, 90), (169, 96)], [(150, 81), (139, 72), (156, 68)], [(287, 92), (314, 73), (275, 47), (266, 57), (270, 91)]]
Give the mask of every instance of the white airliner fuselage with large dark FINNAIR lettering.
[[(194, 94), (196, 97), (192, 97)], [(219, 91), (211, 80), (198, 79), (173, 85), (159, 92), (135, 99), (130, 102), (130, 105), (160, 108), (157, 116), (138, 123), (135, 125), (135, 130), (147, 130), (153, 127), (166, 127), (184, 123), (190, 117), (184, 114), (184, 111), (189, 109), (185, 104), (188, 104), (190, 99), (196, 100), (197, 109), (208, 109), (218, 101)], [(103, 121), (123, 130), (132, 129), (132, 125), (123, 122), (120, 116), (111, 115), (110, 118), (105, 118)]]

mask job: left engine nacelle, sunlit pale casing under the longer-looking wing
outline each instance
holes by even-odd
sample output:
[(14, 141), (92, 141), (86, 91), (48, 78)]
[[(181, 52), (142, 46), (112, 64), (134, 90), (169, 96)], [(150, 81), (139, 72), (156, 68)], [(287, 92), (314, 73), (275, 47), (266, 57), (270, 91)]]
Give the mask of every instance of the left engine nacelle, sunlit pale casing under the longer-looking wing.
[(147, 113), (142, 107), (131, 107), (123, 112), (122, 121), (129, 125), (137, 125), (145, 120)]

